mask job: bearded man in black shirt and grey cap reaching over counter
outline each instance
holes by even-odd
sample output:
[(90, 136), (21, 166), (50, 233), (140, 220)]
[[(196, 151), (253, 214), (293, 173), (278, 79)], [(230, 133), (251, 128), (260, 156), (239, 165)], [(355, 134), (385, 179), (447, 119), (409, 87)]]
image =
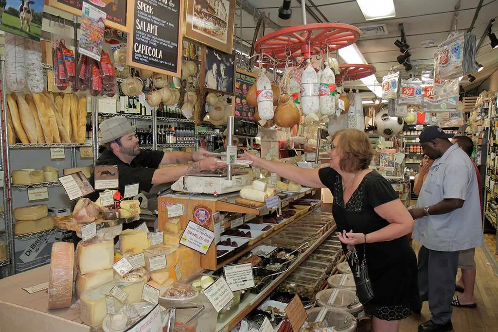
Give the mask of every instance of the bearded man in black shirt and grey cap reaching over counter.
[[(118, 166), (119, 191), (124, 194), (124, 186), (138, 183), (139, 191), (149, 192), (154, 184), (169, 183), (188, 173), (216, 170), (226, 167), (220, 159), (207, 157), (210, 152), (200, 150), (193, 153), (174, 151), (143, 150), (138, 146), (135, 136), (136, 126), (131, 125), (124, 116), (115, 116), (102, 121), (101, 143), (106, 150), (97, 160), (97, 166)], [(188, 162), (192, 163), (187, 164)], [(158, 169), (159, 165), (177, 164), (178, 166)], [(94, 173), (90, 183), (94, 185)]]

